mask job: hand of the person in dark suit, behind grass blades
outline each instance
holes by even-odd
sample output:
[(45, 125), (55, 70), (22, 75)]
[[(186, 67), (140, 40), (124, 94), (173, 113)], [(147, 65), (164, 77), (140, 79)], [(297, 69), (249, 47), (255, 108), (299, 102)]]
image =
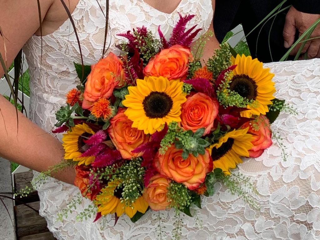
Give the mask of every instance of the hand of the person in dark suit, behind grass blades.
[[(289, 9), (283, 29), (284, 47), (290, 48), (294, 43), (296, 29), (299, 31), (299, 37), (320, 18), (320, 14), (310, 14), (299, 12), (293, 6)], [(314, 29), (310, 38), (320, 37), (320, 24)], [(292, 49), (290, 55), (296, 55), (301, 44)], [(308, 41), (302, 49), (301, 53), (307, 52), (308, 59), (320, 58), (320, 38)]]

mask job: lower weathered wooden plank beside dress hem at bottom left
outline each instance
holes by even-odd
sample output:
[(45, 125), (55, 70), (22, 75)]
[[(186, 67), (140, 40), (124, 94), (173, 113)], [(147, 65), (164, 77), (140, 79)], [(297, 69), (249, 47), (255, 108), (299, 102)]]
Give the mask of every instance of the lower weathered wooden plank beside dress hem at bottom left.
[[(28, 205), (39, 210), (40, 202), (28, 203)], [(16, 205), (14, 211), (18, 238), (49, 231), (46, 220), (27, 206)]]

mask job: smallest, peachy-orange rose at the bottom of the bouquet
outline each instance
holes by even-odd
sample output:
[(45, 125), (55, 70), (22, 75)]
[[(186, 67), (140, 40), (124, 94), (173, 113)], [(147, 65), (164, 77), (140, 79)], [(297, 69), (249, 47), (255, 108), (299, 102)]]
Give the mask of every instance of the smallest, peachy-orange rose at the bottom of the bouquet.
[(143, 198), (154, 211), (166, 209), (170, 201), (167, 199), (167, 192), (171, 180), (160, 174), (154, 175), (150, 178), (150, 183), (144, 189)]

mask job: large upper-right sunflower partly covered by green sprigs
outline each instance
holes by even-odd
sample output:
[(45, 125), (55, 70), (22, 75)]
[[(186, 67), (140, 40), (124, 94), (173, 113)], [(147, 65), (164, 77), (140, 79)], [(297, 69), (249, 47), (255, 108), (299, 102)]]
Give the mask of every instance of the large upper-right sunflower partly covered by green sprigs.
[(236, 58), (232, 57), (231, 61), (232, 65), (237, 67), (233, 70), (230, 90), (254, 101), (252, 107), (247, 106), (250, 110), (242, 112), (241, 116), (265, 115), (269, 111), (268, 105), (272, 104), (271, 100), (275, 98), (275, 83), (272, 82), (275, 75), (269, 72), (269, 68), (263, 68), (258, 59), (252, 60), (251, 56), (237, 55)]

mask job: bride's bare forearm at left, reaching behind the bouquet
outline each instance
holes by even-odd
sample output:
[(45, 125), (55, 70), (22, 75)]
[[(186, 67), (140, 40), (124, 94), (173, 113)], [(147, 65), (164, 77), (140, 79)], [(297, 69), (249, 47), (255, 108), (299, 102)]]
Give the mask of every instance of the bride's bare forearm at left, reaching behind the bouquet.
[[(61, 162), (61, 142), (32, 123), (0, 95), (0, 156), (36, 171), (45, 171)], [(65, 169), (55, 178), (72, 184), (75, 172)]]

